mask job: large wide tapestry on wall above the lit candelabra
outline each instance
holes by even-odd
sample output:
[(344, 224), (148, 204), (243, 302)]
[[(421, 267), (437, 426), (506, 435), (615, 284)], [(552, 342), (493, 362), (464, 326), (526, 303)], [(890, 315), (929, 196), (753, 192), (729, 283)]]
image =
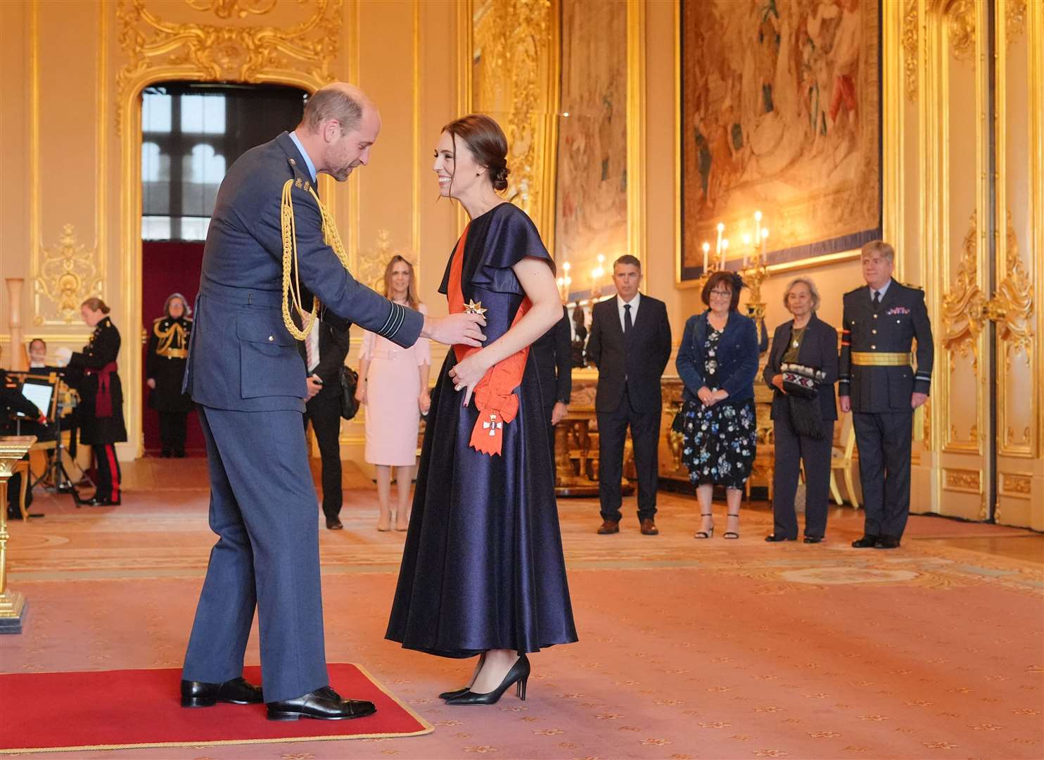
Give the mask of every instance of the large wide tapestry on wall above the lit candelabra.
[(682, 259), (701, 276), (717, 224), (769, 264), (881, 236), (878, 0), (682, 3)]

